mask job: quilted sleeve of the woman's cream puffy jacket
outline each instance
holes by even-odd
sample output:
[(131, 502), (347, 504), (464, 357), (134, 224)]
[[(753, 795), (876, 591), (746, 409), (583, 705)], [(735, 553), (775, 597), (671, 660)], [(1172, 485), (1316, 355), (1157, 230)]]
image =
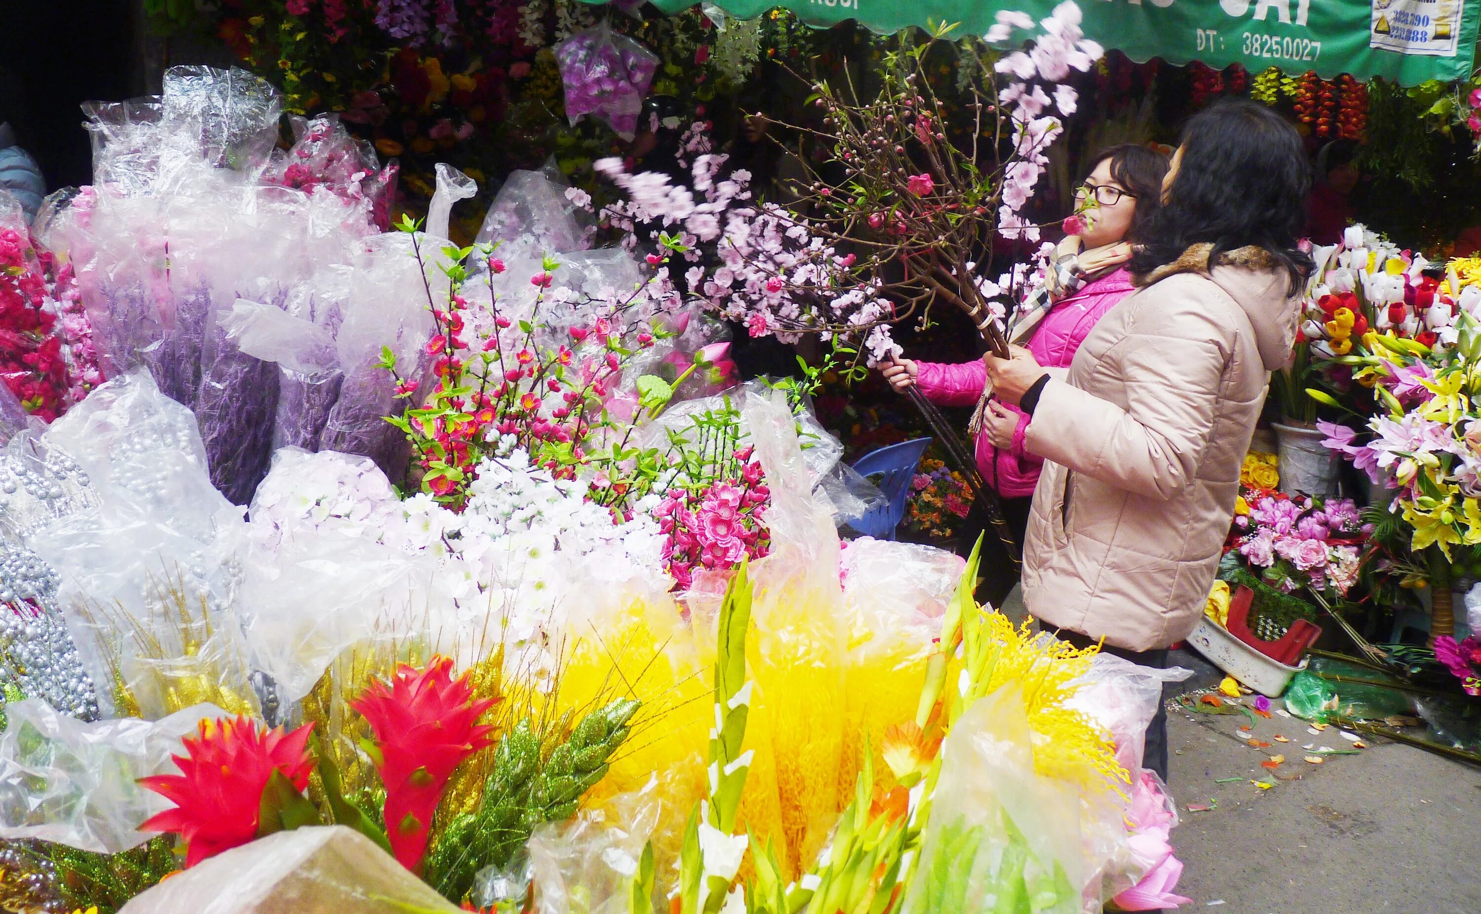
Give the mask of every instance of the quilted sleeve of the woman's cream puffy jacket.
[(1235, 341), (1237, 307), (1217, 298), (1213, 283), (1183, 276), (1127, 302), (1134, 313), (1105, 357), (1044, 387), (1026, 449), (1146, 498), (1182, 492), (1208, 443)]

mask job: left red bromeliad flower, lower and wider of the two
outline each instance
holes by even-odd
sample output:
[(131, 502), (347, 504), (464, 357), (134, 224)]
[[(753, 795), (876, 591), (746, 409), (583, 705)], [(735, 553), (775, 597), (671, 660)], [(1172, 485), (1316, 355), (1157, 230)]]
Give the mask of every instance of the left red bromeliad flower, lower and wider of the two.
[(258, 809), (273, 772), (308, 787), (314, 757), (308, 733), (314, 724), (286, 733), (258, 729), (246, 717), (200, 721), (200, 736), (184, 739), (187, 757), (175, 755), (179, 775), (141, 778), (139, 784), (175, 803), (141, 831), (172, 831), (185, 838), (185, 865), (231, 850), (258, 837)]

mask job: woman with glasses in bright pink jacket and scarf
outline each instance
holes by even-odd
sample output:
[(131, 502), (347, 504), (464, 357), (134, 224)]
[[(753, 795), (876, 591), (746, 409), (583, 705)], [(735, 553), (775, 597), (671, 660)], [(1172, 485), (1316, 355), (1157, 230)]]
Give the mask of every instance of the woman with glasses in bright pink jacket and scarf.
[[(1131, 276), (1123, 265), (1131, 258), (1126, 237), (1157, 209), (1167, 157), (1123, 144), (1097, 153), (1090, 167), (1090, 176), (1075, 188), (1075, 210), (1086, 228), (1060, 243), (1050, 268), (1049, 295), (1012, 329), (1014, 341), (1026, 345), (1043, 366), (1069, 367), (1096, 321), (1131, 293)], [(946, 364), (899, 358), (884, 366), (884, 378), (897, 391), (918, 384), (932, 403), (974, 406), (986, 384), (986, 369), (980, 360)], [(1026, 415), (994, 398), (986, 403), (976, 433), (977, 470), (997, 490), (1019, 545), (1043, 465), (1041, 458), (1023, 449), (1026, 430)], [(991, 588), (1003, 593), (988, 597), (1001, 600), (1013, 585), (1004, 584)]]

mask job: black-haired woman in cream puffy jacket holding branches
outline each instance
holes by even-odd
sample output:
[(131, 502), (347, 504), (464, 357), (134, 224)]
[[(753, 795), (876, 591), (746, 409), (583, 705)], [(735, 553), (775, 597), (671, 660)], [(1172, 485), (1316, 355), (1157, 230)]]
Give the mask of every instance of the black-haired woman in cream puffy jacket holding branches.
[[(1062, 637), (1164, 665), (1197, 624), (1271, 370), (1296, 335), (1309, 182), (1300, 138), (1278, 114), (1248, 101), (1204, 110), (1163, 207), (1133, 237), (1139, 292), (1068, 370), (1026, 350), (985, 360), (998, 396), (1029, 415), (1025, 447), (1044, 459), (1023, 601)], [(1167, 775), (1163, 714), (1146, 767)]]

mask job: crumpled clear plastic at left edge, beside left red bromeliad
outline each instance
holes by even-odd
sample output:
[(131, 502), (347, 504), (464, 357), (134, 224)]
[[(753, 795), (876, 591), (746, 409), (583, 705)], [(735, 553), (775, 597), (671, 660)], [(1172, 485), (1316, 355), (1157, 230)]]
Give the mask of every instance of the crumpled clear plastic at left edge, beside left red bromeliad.
[(41, 838), (96, 853), (148, 841), (139, 831), (170, 801), (139, 787), (175, 773), (170, 755), (201, 720), (225, 715), (195, 705), (150, 723), (132, 717), (81, 723), (28, 698), (6, 707), (0, 736), (0, 837)]

